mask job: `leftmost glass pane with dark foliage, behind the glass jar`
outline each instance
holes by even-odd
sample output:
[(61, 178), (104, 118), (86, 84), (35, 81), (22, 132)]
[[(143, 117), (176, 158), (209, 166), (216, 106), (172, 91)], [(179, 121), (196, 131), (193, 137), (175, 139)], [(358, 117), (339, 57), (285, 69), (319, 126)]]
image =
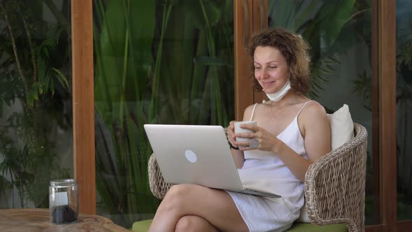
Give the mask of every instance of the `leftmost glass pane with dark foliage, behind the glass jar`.
[(0, 208), (73, 177), (70, 1), (0, 1)]

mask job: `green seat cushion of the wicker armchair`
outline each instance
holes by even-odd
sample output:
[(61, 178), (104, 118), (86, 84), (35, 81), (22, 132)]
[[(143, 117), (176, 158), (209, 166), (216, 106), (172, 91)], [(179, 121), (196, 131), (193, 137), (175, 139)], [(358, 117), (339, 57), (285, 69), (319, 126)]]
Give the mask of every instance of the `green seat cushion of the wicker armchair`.
[[(149, 231), (149, 226), (152, 224), (152, 219), (144, 220), (140, 222), (133, 223), (133, 232), (147, 232)], [(291, 232), (344, 232), (346, 230), (346, 224), (333, 224), (328, 226), (316, 226), (310, 223), (294, 223), (293, 226), (288, 230)]]

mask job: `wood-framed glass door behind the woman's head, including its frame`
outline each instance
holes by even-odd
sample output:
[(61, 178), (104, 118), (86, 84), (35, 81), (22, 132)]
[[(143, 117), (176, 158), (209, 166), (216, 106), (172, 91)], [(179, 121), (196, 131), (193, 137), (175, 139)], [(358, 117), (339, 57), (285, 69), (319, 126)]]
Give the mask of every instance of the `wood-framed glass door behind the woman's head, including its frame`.
[[(386, 41), (390, 43), (387, 39), (390, 34), (386, 31), (393, 25), (390, 20), (379, 20), (382, 17), (390, 19), (390, 13), (385, 11), (388, 5), (391, 3), (368, 0), (244, 0), (235, 4), (235, 80), (240, 83), (235, 94), (237, 116), (251, 103), (261, 102), (265, 97), (253, 92), (251, 81), (244, 78), (250, 68), (249, 60), (242, 56), (245, 55), (244, 44), (250, 40), (251, 34), (267, 27), (283, 27), (300, 34), (311, 46), (308, 96), (321, 103), (328, 113), (347, 104), (353, 121), (367, 128), (365, 224), (375, 225), (371, 230), (381, 230), (385, 226), (392, 228), (396, 223), (390, 216), (395, 206), (391, 190), (395, 184), (390, 184), (393, 182), (390, 182), (388, 173), (394, 168), (388, 161), (395, 155), (392, 140), (388, 138), (394, 138), (394, 135), (381, 136), (382, 131), (390, 131), (387, 125), (395, 122), (392, 114), (382, 114), (392, 106), (388, 97), (383, 98), (391, 94), (391, 85), (385, 84), (392, 80), (388, 75), (392, 71), (388, 62), (391, 57), (382, 54), (392, 54), (391, 47), (384, 44)], [(388, 66), (381, 66), (381, 62)], [(387, 74), (385, 79), (382, 73)]]

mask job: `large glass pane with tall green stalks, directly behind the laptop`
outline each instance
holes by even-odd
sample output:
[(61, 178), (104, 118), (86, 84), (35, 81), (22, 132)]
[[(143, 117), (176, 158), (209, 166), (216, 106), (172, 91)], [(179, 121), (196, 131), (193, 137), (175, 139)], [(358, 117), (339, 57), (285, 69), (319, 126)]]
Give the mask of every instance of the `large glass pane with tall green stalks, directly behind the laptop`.
[(93, 1), (97, 211), (152, 218), (143, 124), (234, 118), (233, 0)]

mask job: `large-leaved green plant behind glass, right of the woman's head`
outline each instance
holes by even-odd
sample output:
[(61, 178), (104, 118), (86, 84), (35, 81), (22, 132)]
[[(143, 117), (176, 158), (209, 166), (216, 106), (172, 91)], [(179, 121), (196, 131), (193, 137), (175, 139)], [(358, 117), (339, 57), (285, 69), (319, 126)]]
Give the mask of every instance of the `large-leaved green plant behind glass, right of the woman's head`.
[(338, 55), (364, 39), (354, 35), (360, 34), (358, 27), (370, 17), (369, 2), (355, 0), (270, 1), (269, 10), (270, 27), (295, 31), (311, 47), (311, 87), (307, 95), (313, 99), (329, 81), (325, 75), (333, 74), (340, 65)]

